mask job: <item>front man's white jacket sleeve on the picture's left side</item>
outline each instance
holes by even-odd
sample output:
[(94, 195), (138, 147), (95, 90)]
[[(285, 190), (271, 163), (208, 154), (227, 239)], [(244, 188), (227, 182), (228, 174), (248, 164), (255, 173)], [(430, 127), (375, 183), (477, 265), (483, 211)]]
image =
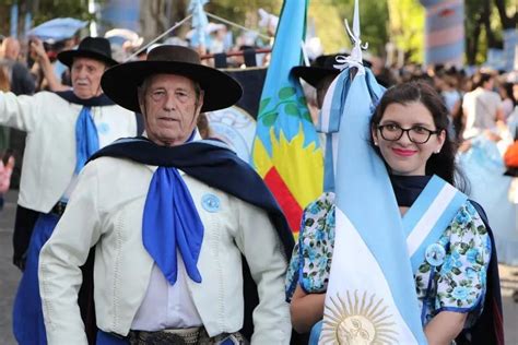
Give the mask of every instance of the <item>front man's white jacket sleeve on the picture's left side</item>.
[(85, 166), (67, 210), (39, 254), (39, 293), (49, 344), (87, 344), (78, 306), (81, 269), (101, 237), (95, 162)]

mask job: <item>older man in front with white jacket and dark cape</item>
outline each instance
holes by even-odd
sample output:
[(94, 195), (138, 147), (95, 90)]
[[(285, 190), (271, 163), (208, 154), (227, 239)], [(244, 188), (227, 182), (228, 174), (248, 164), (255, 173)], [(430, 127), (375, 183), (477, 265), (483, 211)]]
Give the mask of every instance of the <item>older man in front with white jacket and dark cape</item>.
[(42, 250), (48, 343), (86, 344), (76, 298), (95, 248), (97, 344), (244, 344), (250, 293), (251, 344), (289, 344), (287, 223), (251, 167), (196, 129), (201, 111), (239, 99), (239, 84), (192, 49), (160, 46), (109, 69), (102, 85), (142, 111), (146, 138), (93, 156)]

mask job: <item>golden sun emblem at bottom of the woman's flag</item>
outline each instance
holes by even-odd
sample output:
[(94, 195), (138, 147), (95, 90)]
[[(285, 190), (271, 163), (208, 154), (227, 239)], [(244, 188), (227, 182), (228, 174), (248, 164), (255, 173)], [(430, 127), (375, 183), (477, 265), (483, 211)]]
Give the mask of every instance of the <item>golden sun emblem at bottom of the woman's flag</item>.
[(382, 298), (376, 298), (375, 294), (368, 297), (367, 292), (361, 298), (357, 290), (345, 294), (346, 297), (340, 294), (330, 297), (331, 304), (326, 305), (322, 344), (397, 344), (396, 323)]

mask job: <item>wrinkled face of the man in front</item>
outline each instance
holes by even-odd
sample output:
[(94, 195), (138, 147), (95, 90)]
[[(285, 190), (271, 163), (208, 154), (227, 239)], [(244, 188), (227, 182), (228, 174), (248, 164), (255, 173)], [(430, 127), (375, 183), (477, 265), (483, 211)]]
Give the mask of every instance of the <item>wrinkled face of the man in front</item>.
[(185, 143), (195, 131), (203, 93), (188, 78), (155, 74), (139, 90), (148, 138), (158, 145)]

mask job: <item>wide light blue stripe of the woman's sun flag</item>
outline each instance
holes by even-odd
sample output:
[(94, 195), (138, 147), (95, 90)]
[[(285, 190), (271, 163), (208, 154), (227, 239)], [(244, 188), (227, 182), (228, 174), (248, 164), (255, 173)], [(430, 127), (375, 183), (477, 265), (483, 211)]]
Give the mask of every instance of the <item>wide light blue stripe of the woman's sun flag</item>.
[(373, 104), (368, 99), (366, 75), (356, 75), (340, 129), (337, 206), (376, 258), (407, 325), (420, 344), (426, 344), (398, 204), (385, 164), (369, 145)]

